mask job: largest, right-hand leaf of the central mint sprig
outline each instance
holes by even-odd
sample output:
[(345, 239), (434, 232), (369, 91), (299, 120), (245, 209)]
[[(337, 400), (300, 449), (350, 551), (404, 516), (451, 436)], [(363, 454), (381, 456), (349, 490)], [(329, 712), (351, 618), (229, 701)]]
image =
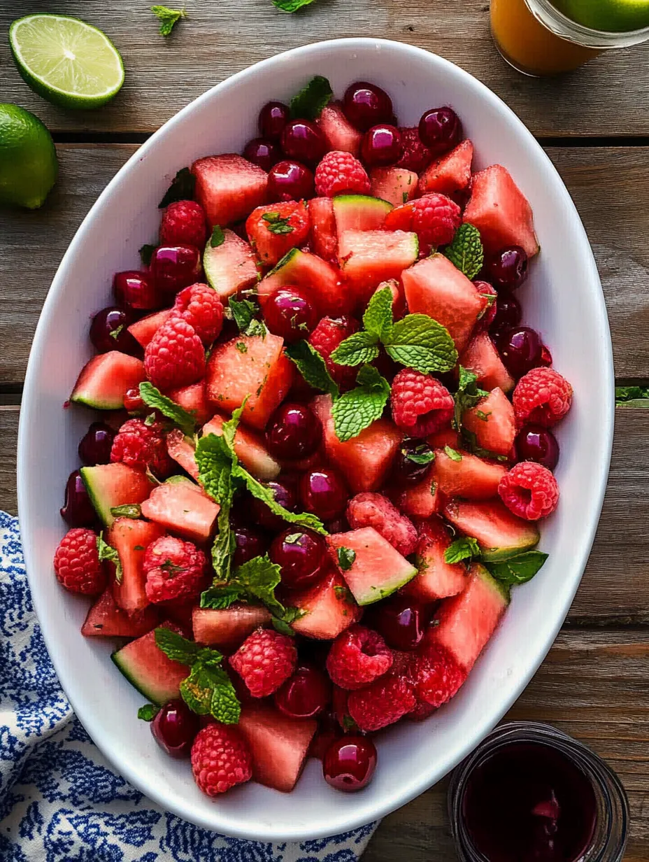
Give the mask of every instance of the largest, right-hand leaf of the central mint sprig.
[(406, 315), (397, 321), (384, 346), (395, 362), (422, 374), (450, 372), (458, 361), (448, 330), (428, 315)]

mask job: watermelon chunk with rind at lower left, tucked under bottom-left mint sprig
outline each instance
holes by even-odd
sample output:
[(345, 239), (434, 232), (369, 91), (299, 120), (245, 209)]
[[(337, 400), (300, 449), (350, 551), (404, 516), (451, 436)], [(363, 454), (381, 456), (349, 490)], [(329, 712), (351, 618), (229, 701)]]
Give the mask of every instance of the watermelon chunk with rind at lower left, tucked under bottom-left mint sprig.
[[(182, 634), (172, 622), (163, 622), (160, 628), (171, 628), (172, 632)], [(180, 696), (180, 684), (189, 676), (190, 669), (178, 661), (165, 656), (155, 642), (155, 631), (131, 640), (126, 647), (110, 656), (122, 671), (128, 682), (147, 700), (158, 706)]]

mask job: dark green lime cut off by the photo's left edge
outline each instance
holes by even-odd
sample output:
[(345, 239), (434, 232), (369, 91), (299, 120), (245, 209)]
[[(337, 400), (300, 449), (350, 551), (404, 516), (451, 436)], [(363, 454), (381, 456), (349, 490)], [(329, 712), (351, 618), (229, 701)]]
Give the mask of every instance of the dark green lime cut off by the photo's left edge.
[(35, 209), (56, 182), (52, 135), (37, 116), (0, 104), (0, 203)]

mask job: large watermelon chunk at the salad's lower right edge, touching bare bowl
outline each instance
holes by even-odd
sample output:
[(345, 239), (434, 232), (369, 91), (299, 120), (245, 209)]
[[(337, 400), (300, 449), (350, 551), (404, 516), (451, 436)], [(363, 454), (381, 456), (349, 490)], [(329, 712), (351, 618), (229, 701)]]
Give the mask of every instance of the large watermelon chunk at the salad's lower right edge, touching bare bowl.
[(431, 628), (430, 638), (469, 671), (508, 604), (507, 592), (484, 565), (474, 564), (466, 589), (442, 603), (437, 614), (439, 624)]

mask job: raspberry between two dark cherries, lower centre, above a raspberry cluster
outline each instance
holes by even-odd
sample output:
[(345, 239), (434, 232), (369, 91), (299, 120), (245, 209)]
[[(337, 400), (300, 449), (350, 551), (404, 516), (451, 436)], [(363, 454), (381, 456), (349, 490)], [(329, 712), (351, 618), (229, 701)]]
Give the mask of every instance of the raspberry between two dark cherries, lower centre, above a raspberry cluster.
[(360, 689), (390, 670), (392, 653), (378, 632), (352, 626), (338, 635), (327, 657), (327, 670), (341, 689)]

